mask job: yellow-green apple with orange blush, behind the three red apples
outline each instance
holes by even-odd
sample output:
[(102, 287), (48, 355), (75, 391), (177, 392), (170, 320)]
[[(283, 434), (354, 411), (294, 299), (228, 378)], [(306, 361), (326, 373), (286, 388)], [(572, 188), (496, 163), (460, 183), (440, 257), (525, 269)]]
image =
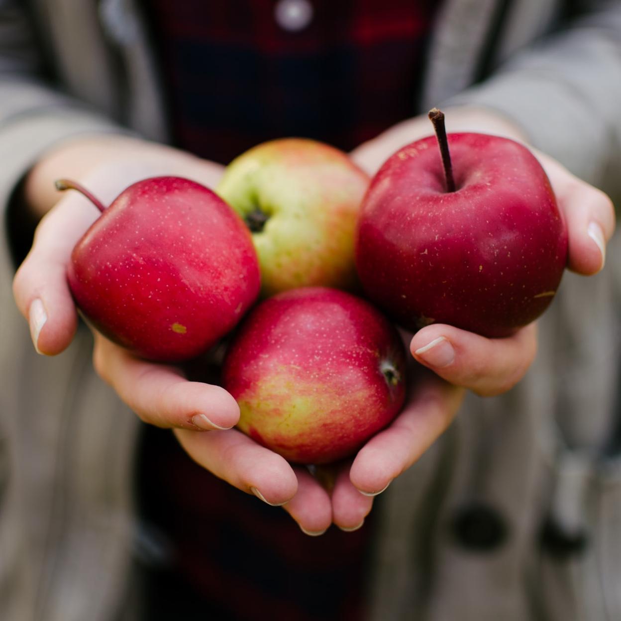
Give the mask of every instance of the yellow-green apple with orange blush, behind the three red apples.
[(216, 191), (252, 231), (263, 296), (359, 286), (354, 235), (368, 184), (345, 153), (302, 138), (263, 143), (227, 166)]

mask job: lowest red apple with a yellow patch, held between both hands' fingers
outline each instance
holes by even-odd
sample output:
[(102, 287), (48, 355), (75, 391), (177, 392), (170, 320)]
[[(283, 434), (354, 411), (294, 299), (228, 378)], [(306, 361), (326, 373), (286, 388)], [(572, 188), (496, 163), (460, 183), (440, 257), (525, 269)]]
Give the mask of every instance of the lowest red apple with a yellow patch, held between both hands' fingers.
[(243, 432), (290, 461), (329, 463), (399, 412), (405, 360), (398, 333), (368, 302), (294, 289), (243, 322), (225, 358), (224, 388), (237, 399)]

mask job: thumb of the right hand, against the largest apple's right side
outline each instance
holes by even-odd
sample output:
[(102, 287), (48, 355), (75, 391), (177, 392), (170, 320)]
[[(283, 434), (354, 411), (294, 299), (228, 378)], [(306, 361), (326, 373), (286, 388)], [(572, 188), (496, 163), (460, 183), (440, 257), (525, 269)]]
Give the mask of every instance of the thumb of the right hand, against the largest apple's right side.
[(605, 245), (615, 228), (612, 201), (602, 191), (571, 175), (566, 168), (538, 154), (548, 173), (568, 230), (568, 268), (595, 274), (604, 266)]

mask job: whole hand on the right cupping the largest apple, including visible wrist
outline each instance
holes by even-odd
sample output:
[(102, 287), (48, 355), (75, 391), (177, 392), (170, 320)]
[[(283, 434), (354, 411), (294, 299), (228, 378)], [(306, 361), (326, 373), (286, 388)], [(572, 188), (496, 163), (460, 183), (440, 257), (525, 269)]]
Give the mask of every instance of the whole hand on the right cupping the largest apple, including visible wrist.
[[(504, 135), (527, 142), (522, 132), (489, 111), (446, 111), (448, 131)], [(374, 175), (392, 153), (433, 133), (427, 117), (396, 125), (351, 153)], [(568, 229), (568, 269), (596, 274), (615, 227), (614, 207), (599, 189), (571, 175), (560, 163), (533, 150), (542, 164)], [(333, 522), (355, 530), (371, 510), (373, 496), (409, 468), (442, 434), (459, 409), (465, 389), (481, 396), (501, 394), (522, 379), (537, 352), (531, 324), (507, 338), (486, 338), (450, 325), (433, 324), (410, 340), (414, 360), (434, 373), (417, 374), (410, 400), (397, 419), (371, 438), (349, 464), (333, 473)]]

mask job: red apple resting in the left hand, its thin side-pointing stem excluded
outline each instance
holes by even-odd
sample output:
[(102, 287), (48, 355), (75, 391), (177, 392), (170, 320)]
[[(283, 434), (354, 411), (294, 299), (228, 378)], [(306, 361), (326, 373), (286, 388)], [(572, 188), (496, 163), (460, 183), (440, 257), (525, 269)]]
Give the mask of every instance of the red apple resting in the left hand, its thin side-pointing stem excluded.
[(176, 177), (125, 189), (76, 244), (68, 281), (86, 318), (138, 356), (193, 358), (260, 288), (247, 228), (211, 190)]

